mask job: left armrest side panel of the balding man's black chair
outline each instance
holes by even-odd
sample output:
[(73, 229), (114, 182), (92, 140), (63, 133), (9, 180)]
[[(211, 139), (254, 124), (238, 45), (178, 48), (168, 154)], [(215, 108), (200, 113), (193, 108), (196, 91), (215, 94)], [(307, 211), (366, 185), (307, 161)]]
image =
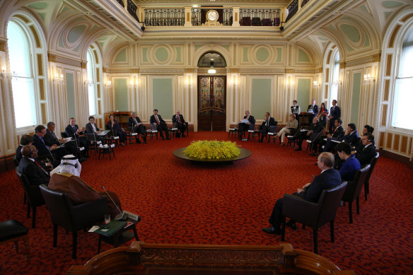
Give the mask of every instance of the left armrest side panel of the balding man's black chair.
[(305, 199), (294, 196), (291, 194), (284, 194), (283, 205), (282, 205), (282, 215), (293, 220), (299, 221), (311, 226), (316, 223), (314, 219), (318, 217), (321, 205), (315, 204)]

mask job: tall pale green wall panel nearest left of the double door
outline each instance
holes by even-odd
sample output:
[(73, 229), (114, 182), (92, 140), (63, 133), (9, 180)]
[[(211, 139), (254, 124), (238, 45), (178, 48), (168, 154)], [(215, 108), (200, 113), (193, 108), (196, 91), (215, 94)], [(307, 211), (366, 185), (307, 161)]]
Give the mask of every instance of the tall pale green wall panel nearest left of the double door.
[(163, 119), (170, 119), (172, 110), (172, 78), (152, 78), (153, 109), (158, 109)]

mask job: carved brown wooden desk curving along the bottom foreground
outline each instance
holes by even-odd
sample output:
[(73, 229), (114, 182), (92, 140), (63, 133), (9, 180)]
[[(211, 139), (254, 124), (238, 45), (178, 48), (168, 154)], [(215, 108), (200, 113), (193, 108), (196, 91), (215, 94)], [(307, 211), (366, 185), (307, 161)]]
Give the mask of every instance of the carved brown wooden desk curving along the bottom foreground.
[(71, 266), (66, 274), (335, 274), (341, 271), (328, 259), (288, 243), (264, 245), (163, 245), (132, 242), (102, 252), (84, 266)]

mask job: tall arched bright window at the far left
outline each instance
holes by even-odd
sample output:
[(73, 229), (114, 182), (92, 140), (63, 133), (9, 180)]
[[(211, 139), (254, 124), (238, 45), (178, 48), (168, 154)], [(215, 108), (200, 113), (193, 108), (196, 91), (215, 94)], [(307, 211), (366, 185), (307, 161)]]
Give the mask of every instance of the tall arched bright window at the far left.
[(7, 38), (10, 71), (17, 74), (11, 81), (16, 128), (33, 126), (37, 124), (37, 104), (30, 40), (14, 21), (8, 22)]

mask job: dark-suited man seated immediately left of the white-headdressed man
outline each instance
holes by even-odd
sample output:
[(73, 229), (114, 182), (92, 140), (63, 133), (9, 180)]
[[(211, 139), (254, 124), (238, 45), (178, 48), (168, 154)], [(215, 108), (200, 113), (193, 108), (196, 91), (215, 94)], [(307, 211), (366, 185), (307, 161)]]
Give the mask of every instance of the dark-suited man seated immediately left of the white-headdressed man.
[(21, 148), (23, 158), (18, 165), (18, 171), (24, 174), (30, 185), (48, 184), (50, 180), (49, 172), (43, 167), (44, 163), (36, 160), (37, 149), (33, 145), (26, 145)]

